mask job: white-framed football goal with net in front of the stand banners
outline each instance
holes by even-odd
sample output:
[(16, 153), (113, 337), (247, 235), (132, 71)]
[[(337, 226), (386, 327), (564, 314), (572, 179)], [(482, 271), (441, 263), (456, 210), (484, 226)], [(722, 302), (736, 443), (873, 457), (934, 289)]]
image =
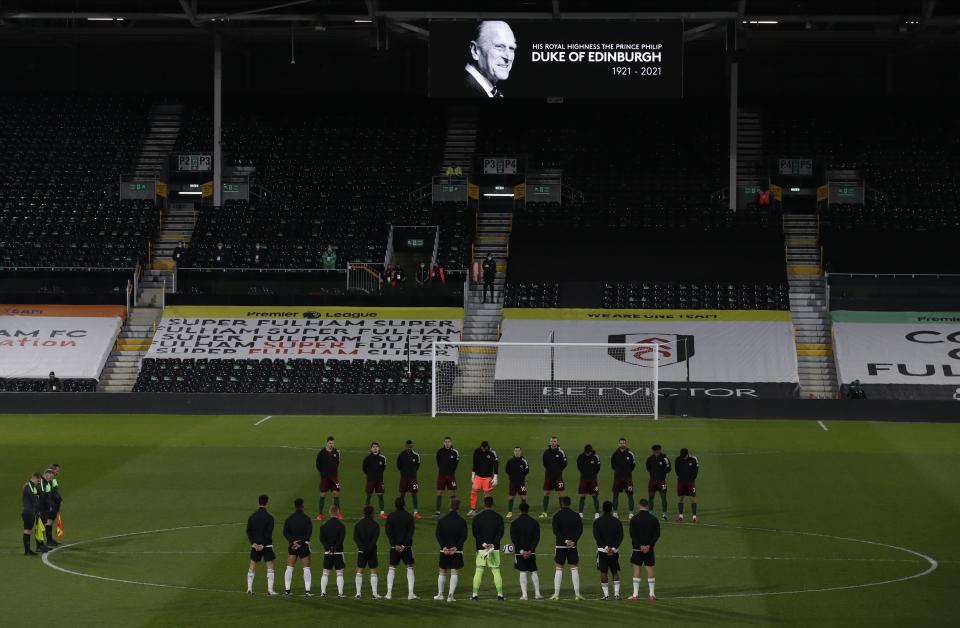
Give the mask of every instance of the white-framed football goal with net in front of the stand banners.
[(432, 415), (657, 418), (656, 343), (437, 342)]

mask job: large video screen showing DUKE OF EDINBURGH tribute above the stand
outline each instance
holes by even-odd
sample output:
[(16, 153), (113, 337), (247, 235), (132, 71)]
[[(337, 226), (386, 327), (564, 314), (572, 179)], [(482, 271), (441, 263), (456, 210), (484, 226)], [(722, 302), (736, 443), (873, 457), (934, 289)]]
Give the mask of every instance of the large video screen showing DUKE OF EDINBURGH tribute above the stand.
[(681, 98), (682, 29), (679, 21), (433, 21), (430, 95)]

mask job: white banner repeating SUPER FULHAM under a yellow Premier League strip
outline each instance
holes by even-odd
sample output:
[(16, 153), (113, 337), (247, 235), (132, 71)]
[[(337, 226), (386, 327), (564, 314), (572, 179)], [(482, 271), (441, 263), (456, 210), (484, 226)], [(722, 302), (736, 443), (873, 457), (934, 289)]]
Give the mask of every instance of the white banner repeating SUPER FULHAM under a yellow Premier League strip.
[(429, 360), (462, 321), (460, 308), (170, 306), (147, 357)]

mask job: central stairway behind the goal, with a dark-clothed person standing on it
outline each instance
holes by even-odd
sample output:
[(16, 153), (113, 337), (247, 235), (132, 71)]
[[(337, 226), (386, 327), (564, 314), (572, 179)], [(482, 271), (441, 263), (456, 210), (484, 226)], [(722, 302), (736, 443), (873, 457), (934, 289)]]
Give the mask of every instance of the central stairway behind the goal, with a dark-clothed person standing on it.
[[(503, 320), (503, 292), (506, 283), (507, 256), (513, 214), (505, 212), (480, 212), (477, 216), (477, 235), (473, 255), (483, 260), (487, 253), (497, 261), (497, 277), (494, 281), (493, 302), (483, 302), (483, 283), (470, 283), (464, 299), (463, 340), (496, 342), (500, 339), (500, 323)], [(461, 347), (459, 372), (454, 381), (455, 395), (491, 395), (494, 392), (494, 375), (497, 367), (497, 350), (492, 347)]]

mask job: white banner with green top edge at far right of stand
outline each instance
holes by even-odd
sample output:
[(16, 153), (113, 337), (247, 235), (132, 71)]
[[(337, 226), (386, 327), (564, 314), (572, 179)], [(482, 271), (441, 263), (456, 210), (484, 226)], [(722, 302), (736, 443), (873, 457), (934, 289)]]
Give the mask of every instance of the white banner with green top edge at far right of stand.
[(868, 398), (960, 401), (960, 312), (854, 312), (833, 317), (844, 384)]

